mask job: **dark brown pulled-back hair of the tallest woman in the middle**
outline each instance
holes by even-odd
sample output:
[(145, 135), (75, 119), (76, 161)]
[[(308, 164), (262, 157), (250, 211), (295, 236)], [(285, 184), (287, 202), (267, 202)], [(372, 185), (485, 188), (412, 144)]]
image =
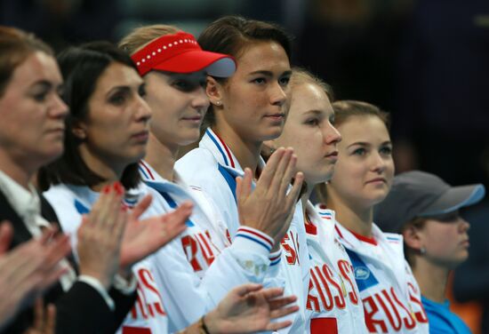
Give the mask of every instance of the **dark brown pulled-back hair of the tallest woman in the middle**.
[[(198, 44), (205, 51), (220, 52), (233, 56), (236, 60), (250, 44), (276, 42), (280, 44), (289, 60), (292, 56), (292, 36), (275, 23), (248, 20), (241, 16), (229, 15), (213, 21), (198, 37)], [(214, 79), (225, 83), (227, 78)], [(212, 125), (215, 116), (212, 105), (205, 115), (204, 125)]]

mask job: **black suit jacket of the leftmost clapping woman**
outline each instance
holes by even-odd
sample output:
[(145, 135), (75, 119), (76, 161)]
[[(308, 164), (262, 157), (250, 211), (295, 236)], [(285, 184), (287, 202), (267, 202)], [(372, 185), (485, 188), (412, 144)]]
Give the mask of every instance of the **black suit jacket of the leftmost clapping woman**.
[[(41, 209), (44, 219), (58, 225), (56, 214), (42, 195)], [(0, 221), (4, 219), (10, 220), (14, 228), (11, 249), (32, 238), (17, 212), (12, 209), (4, 193), (0, 191)], [(68, 260), (76, 268), (76, 263), (71, 256), (68, 257)], [(124, 321), (125, 315), (131, 310), (136, 299), (136, 293), (125, 296), (119, 291), (111, 289), (109, 294), (116, 304), (114, 312), (110, 311), (100, 293), (89, 284), (75, 282), (67, 292), (61, 289), (59, 282), (54, 284), (51, 289), (44, 293), (44, 303), (56, 305), (56, 333), (114, 333)], [(32, 324), (32, 320), (32, 307), (29, 306), (17, 314), (13, 321), (2, 330), (2, 333), (22, 333)]]

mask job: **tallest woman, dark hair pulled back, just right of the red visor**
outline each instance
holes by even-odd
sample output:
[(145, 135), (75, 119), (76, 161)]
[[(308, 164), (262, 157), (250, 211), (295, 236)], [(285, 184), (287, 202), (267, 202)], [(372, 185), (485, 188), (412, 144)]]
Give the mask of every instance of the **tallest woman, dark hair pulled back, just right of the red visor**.
[[(198, 41), (204, 50), (232, 55), (237, 68), (227, 79), (208, 76), (209, 127), (199, 147), (176, 163), (176, 170), (216, 203), (231, 240), (252, 224), (268, 235), (264, 246), (273, 251), (270, 266), (278, 267), (286, 293), (296, 295), (301, 307), (288, 330), (302, 333), (309, 253), (301, 209), (295, 210), (295, 203), (303, 176), (295, 171), (297, 157), (292, 149), (278, 148), (268, 167), (260, 156), (263, 141), (277, 138), (284, 127), (291, 76), (290, 39), (273, 24), (228, 16), (212, 22)], [(277, 170), (269, 172), (270, 168)], [(293, 176), (291, 191), (286, 193)], [(240, 199), (243, 195), (249, 198)], [(265, 210), (257, 211), (261, 205)], [(250, 216), (242, 214), (245, 208), (251, 209)]]

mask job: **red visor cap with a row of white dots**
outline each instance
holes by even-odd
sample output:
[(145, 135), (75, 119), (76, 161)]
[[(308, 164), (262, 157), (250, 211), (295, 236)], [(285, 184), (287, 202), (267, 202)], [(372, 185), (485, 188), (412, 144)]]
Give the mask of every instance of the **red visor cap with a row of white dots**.
[(203, 51), (196, 38), (185, 32), (161, 36), (131, 58), (140, 76), (153, 69), (173, 73), (192, 73), (204, 69), (208, 75), (218, 77), (232, 76), (236, 71), (233, 57)]

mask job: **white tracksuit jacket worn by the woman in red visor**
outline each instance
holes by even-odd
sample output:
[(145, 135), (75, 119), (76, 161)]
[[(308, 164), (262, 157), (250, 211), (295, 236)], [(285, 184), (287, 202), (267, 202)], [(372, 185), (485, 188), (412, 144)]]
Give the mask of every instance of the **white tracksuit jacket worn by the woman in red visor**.
[[(194, 203), (187, 230), (152, 257), (171, 332), (196, 322), (237, 285), (284, 285), (277, 278), (280, 252), (270, 254), (272, 238), (254, 228), (240, 227), (231, 244), (219, 211), (202, 189), (188, 187), (178, 172), (175, 183), (163, 179), (145, 162), (140, 162), (140, 173), (163, 198), (162, 211), (172, 211), (183, 201)], [(277, 258), (274, 266), (269, 257)]]

